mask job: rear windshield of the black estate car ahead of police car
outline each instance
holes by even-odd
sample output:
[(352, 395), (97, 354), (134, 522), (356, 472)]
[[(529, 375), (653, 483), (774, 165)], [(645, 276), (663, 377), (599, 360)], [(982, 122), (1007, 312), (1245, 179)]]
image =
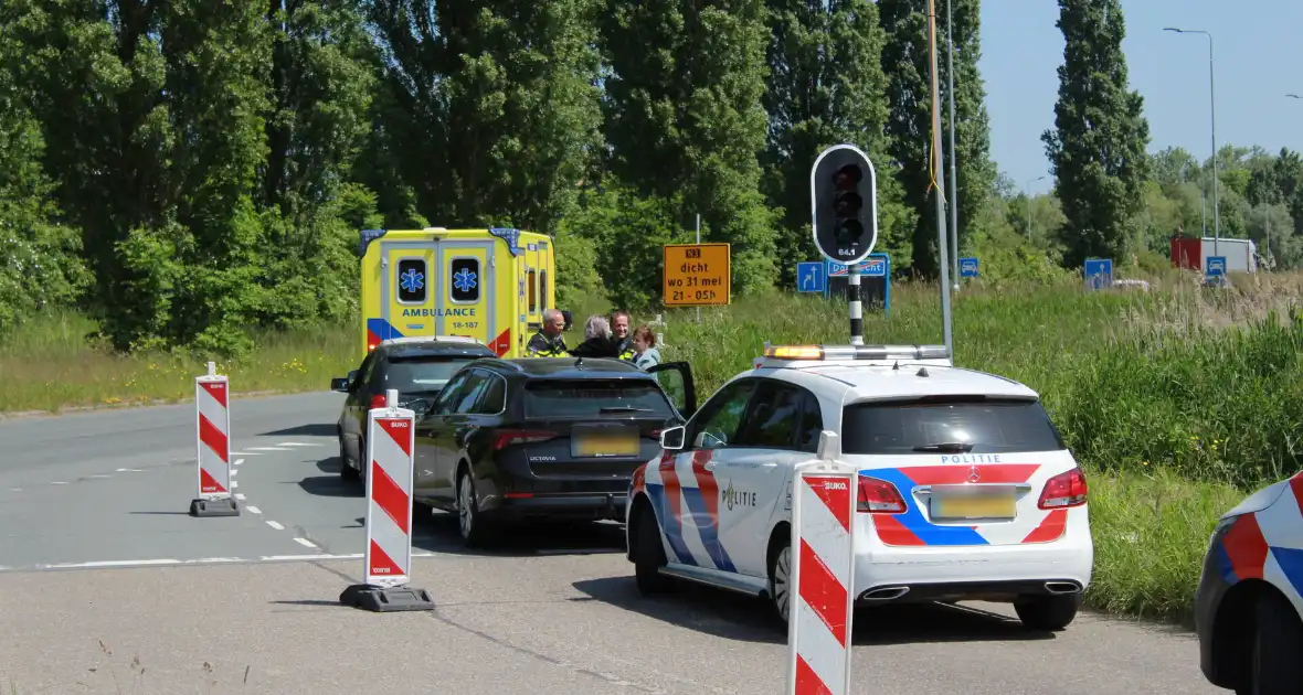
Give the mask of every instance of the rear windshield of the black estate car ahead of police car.
[(663, 419), (674, 415), (670, 401), (653, 381), (534, 381), (525, 387), (526, 418), (640, 416)]

